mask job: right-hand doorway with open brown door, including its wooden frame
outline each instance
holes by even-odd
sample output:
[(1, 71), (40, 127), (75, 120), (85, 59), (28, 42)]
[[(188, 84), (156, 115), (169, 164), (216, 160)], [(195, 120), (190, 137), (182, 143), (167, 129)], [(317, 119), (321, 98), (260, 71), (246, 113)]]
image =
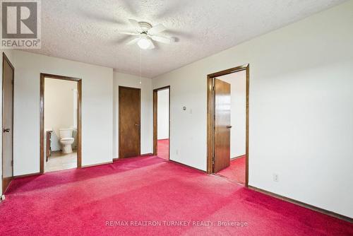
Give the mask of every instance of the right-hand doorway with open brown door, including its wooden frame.
[(208, 75), (208, 173), (249, 183), (249, 64)]

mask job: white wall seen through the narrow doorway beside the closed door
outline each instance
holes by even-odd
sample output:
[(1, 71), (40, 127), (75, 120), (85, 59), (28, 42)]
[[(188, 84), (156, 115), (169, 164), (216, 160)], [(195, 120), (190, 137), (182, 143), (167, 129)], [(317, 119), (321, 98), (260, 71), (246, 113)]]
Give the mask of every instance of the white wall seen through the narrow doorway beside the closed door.
[(157, 139), (169, 138), (169, 89), (157, 92)]

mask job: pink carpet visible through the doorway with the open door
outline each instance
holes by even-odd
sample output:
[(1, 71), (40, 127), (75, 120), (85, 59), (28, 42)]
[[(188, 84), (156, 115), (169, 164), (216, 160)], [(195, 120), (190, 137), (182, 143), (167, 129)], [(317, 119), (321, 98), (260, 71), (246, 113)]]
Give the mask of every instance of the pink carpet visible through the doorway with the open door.
[(245, 155), (241, 158), (230, 160), (229, 167), (217, 172), (217, 175), (227, 177), (230, 180), (245, 183)]

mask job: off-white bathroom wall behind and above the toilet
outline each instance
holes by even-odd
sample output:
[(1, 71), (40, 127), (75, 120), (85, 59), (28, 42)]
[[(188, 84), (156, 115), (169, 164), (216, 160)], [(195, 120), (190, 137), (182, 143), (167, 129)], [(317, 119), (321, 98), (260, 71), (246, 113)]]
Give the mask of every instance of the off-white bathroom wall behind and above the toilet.
[[(44, 128), (53, 130), (52, 151), (61, 150), (59, 129), (74, 128), (74, 119), (77, 120), (77, 117), (73, 117), (74, 90), (77, 90), (76, 81), (45, 78)], [(76, 132), (73, 132), (73, 134), (74, 133)], [(76, 138), (76, 136), (73, 137)]]

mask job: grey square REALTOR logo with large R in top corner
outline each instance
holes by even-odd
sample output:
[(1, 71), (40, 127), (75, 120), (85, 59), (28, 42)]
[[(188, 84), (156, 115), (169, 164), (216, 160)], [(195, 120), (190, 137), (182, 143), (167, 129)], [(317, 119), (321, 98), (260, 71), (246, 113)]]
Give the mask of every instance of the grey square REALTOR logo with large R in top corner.
[(2, 49), (40, 49), (40, 0), (1, 0)]

